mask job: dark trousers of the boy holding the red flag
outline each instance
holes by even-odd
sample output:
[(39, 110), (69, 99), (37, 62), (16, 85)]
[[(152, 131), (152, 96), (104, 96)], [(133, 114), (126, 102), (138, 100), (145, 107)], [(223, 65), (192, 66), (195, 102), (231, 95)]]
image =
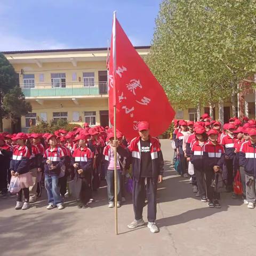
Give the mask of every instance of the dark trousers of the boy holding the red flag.
[(148, 199), (148, 221), (156, 220), (156, 198), (157, 198), (158, 178), (143, 178), (137, 182), (133, 180), (133, 210), (135, 220), (142, 219), (143, 207), (145, 206), (145, 198)]

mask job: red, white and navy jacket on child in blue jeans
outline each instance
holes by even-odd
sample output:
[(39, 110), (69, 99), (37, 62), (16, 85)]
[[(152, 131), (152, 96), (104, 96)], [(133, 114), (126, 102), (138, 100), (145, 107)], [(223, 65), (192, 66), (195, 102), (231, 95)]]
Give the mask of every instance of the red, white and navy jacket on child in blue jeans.
[[(49, 170), (49, 164), (46, 163), (47, 159), (51, 160), (52, 164), (56, 166), (55, 169)], [(47, 148), (43, 157), (44, 172), (49, 176), (59, 176), (61, 166), (65, 164), (65, 153), (61, 147)]]

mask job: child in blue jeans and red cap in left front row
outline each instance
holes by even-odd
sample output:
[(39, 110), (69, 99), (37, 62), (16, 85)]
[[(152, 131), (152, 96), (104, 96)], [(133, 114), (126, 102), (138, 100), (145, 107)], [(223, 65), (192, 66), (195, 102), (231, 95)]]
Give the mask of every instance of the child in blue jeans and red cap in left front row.
[(58, 207), (59, 210), (63, 209), (63, 201), (60, 196), (59, 187), (59, 174), (61, 166), (65, 165), (65, 154), (58, 146), (55, 135), (48, 135), (47, 141), (50, 147), (44, 152), (44, 171), (45, 171), (45, 189), (48, 196), (48, 206), (46, 209), (51, 210)]

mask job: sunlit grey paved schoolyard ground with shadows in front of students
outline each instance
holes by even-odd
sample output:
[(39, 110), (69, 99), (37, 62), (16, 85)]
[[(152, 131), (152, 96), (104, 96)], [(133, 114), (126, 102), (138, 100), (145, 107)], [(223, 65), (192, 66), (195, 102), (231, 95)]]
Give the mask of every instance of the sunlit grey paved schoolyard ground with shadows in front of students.
[[(191, 192), (188, 180), (175, 174), (170, 140), (162, 140), (165, 178), (158, 189), (158, 234), (147, 227), (129, 230), (131, 197), (118, 210), (107, 207), (106, 187), (90, 209), (67, 200), (64, 210), (46, 210), (45, 196), (27, 211), (14, 210), (15, 197), (0, 201), (0, 255), (255, 255), (256, 209), (222, 194), (222, 208), (209, 209)], [(146, 220), (146, 209), (145, 209)]]

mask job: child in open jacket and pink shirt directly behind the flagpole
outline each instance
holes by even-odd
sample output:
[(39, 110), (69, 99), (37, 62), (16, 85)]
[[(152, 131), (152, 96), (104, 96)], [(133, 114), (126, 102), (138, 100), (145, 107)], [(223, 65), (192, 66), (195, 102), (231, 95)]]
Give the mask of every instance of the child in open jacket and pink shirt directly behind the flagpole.
[[(119, 137), (119, 136), (118, 136)], [(121, 137), (122, 138), (122, 137)], [(108, 207), (113, 208), (115, 199), (115, 184), (114, 184), (114, 147), (117, 150), (117, 207), (121, 207), (122, 202), (122, 172), (125, 169), (125, 159), (128, 156), (128, 151), (121, 145), (120, 141), (114, 141), (114, 133), (110, 132), (107, 137), (108, 145), (103, 150), (105, 161), (107, 161), (107, 188), (108, 188)]]

